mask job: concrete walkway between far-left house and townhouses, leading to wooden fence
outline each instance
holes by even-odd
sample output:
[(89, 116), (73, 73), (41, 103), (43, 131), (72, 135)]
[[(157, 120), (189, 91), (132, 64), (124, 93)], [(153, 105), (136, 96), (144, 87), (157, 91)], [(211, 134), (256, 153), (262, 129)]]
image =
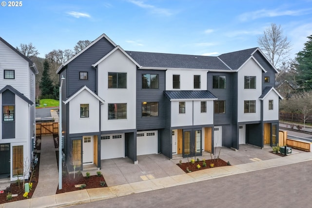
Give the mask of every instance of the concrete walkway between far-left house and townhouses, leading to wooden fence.
[(39, 182), (32, 198), (54, 195), (59, 186), (59, 171), (53, 136), (41, 137)]

